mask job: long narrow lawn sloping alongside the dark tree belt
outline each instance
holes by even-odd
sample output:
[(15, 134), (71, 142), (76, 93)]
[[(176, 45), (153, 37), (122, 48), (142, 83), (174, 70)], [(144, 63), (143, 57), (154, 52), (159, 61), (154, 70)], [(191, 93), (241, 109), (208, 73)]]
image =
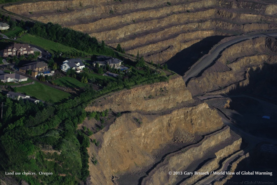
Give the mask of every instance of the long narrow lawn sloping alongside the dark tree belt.
[(41, 37), (30, 35), (30, 34), (23, 35), (22, 37), (18, 38), (18, 40), (22, 42), (34, 44), (50, 52), (51, 51), (52, 52), (61, 51), (61, 52), (71, 52), (71, 53), (82, 52), (72, 47), (64, 46), (60, 43), (56, 43), (54, 41), (43, 39)]

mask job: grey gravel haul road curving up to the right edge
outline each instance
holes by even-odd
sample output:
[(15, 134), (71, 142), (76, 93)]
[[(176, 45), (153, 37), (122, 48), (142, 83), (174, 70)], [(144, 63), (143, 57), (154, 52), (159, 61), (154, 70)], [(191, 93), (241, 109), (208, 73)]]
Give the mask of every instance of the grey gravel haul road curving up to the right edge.
[(226, 48), (232, 46), (233, 44), (239, 43), (239, 42), (242, 42), (242, 41), (248, 40), (248, 39), (254, 39), (257, 37), (268, 37), (268, 36), (276, 37), (277, 33), (253, 33), (253, 34), (239, 37), (239, 38), (236, 38), (236, 39), (233, 39), (233, 40), (230, 40), (230, 41), (220, 44), (219, 46), (217, 46), (215, 48), (214, 51), (212, 51), (211, 54), (204, 56), (204, 58), (202, 58), (202, 60), (200, 62), (195, 63), (193, 66), (191, 66), (190, 70), (188, 70), (185, 73), (185, 75), (183, 76), (184, 81), (187, 84), (191, 78), (201, 75), (201, 73), (209, 65), (211, 65), (212, 62), (214, 62), (218, 58), (218, 56), (222, 53), (222, 51), (224, 51)]

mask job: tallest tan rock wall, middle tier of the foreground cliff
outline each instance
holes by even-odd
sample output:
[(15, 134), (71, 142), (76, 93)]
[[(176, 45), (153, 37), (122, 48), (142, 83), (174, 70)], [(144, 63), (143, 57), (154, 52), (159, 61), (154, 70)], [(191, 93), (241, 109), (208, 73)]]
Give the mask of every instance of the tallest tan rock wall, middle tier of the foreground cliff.
[[(164, 115), (123, 114), (105, 131), (91, 136), (91, 139), (100, 141), (99, 149), (93, 143), (89, 149), (90, 156), (98, 160), (96, 166), (90, 162), (93, 184), (111, 184), (111, 175), (120, 175), (137, 166), (148, 166), (154, 162), (151, 152), (164, 144), (172, 143), (177, 135), (182, 141), (188, 142), (191, 134), (207, 134), (221, 127), (222, 121), (216, 110), (210, 109), (206, 103), (176, 109)], [(206, 141), (194, 150), (201, 155), (207, 147), (214, 146), (229, 136), (229, 129), (226, 128), (215, 138), (209, 138), (209, 144)], [(190, 157), (186, 160), (187, 163), (199, 157), (192, 155), (197, 152), (194, 150), (188, 155)]]

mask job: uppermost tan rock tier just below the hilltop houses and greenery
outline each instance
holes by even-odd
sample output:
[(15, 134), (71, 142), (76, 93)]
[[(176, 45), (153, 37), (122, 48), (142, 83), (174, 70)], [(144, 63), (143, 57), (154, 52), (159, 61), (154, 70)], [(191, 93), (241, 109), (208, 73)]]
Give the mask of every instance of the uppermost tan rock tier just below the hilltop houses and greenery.
[(187, 90), (182, 77), (173, 76), (168, 82), (143, 85), (102, 97), (88, 106), (86, 111), (164, 110), (191, 99), (191, 93)]

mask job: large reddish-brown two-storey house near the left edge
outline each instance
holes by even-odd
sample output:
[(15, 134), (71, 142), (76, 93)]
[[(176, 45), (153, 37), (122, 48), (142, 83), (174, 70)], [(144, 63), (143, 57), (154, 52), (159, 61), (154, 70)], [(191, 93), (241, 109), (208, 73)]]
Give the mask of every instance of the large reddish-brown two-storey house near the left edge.
[(28, 44), (14, 43), (0, 51), (3, 57), (34, 54), (34, 50)]

